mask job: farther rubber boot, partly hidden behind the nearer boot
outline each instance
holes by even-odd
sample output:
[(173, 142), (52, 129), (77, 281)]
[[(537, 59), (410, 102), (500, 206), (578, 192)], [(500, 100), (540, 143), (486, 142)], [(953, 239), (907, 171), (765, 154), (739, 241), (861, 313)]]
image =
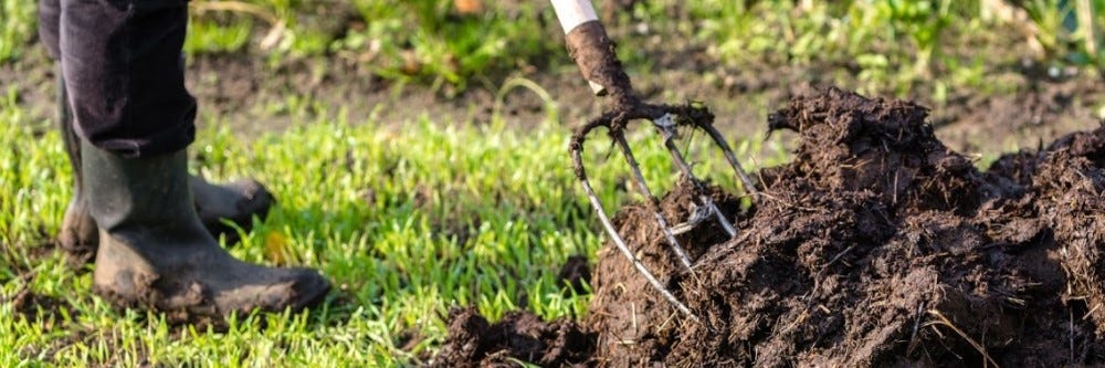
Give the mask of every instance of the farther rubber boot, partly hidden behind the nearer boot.
[[(96, 231), (96, 222), (88, 214), (81, 188), (81, 139), (73, 128), (73, 115), (69, 109), (65, 82), (61, 77), (61, 72), (57, 75), (57, 120), (75, 178), (73, 199), (65, 209), (57, 242), (74, 263), (84, 264), (92, 261), (92, 256), (96, 254), (99, 234)], [(239, 233), (234, 227), (224, 223), (224, 220), (250, 231), (253, 227), (253, 217), (264, 219), (276, 202), (264, 186), (252, 179), (239, 179), (224, 185), (212, 185), (194, 176), (190, 176), (188, 180), (196, 198), (196, 211), (203, 227), (215, 236), (225, 236), (228, 244), (236, 243)]]

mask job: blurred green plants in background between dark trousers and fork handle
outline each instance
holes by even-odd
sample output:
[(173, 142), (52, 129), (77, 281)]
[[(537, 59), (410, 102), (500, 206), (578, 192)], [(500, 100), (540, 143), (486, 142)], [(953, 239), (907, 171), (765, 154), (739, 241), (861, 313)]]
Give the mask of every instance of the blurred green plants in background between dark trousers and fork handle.
[[(192, 4), (186, 50), (192, 54), (254, 50), (267, 54), (272, 63), (325, 55), (446, 94), (490, 75), (547, 65), (547, 55), (564, 54), (547, 3), (484, 3), (484, 11), (462, 14), (451, 1), (264, 0), (234, 6), (198, 1)], [(254, 24), (254, 19), (263, 22)], [(251, 29), (252, 43), (243, 39), (243, 31)]]

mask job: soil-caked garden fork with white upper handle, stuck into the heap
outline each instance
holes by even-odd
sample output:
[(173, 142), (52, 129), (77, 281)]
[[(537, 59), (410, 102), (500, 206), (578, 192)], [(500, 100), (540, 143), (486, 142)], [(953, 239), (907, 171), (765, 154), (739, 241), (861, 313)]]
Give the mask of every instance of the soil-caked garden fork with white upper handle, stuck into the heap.
[[(725, 218), (725, 214), (717, 208), (713, 202), (711, 197), (705, 192), (705, 183), (694, 176), (691, 169), (691, 165), (683, 157), (683, 154), (677, 149), (675, 145), (675, 139), (677, 138), (676, 129), (678, 127), (691, 127), (694, 129), (701, 129), (705, 132), (711, 140), (722, 149), (726, 161), (736, 171), (737, 178), (744, 183), (745, 190), (756, 194), (755, 186), (748, 175), (741, 169), (740, 162), (737, 161), (736, 155), (733, 149), (726, 143), (725, 138), (720, 133), (714, 128), (714, 114), (709, 112), (705, 105), (697, 103), (687, 103), (683, 105), (666, 105), (666, 104), (649, 104), (642, 102), (640, 97), (633, 92), (633, 86), (630, 83), (629, 75), (621, 67), (621, 62), (618, 60), (614, 53), (614, 43), (607, 36), (606, 29), (603, 29), (602, 23), (599, 22), (598, 17), (594, 13), (594, 8), (591, 6), (590, 0), (551, 0), (552, 7), (556, 10), (557, 18), (560, 20), (560, 25), (564, 27), (568, 54), (576, 61), (579, 66), (580, 72), (582, 72), (583, 77), (587, 80), (591, 87), (591, 91), (597, 96), (609, 96), (612, 99), (612, 106), (610, 109), (604, 112), (602, 115), (592, 118), (587, 122), (583, 126), (579, 127), (575, 134), (572, 134), (569, 150), (571, 153), (572, 165), (575, 167), (576, 178), (583, 186), (583, 191), (587, 193), (588, 199), (591, 202), (591, 207), (598, 212), (599, 220), (602, 222), (602, 227), (606, 229), (607, 233), (610, 235), (614, 245), (625, 255), (627, 259), (633, 264), (633, 266), (649, 281), (649, 283), (663, 295), (665, 299), (672, 303), (680, 312), (687, 315), (694, 320), (699, 320), (694, 313), (687, 308), (682, 302), (676, 298), (671, 291), (669, 291), (655, 275), (638, 259), (633, 252), (625, 244), (625, 241), (618, 234), (618, 230), (614, 229), (613, 223), (610, 221), (610, 217), (607, 215), (606, 210), (602, 208), (602, 203), (599, 201), (598, 196), (594, 194), (594, 189), (591, 187), (590, 181), (587, 178), (587, 171), (583, 166), (582, 150), (583, 141), (587, 136), (599, 127), (607, 128), (608, 135), (613, 139), (614, 145), (618, 146), (625, 161), (629, 164), (631, 172), (633, 175), (633, 180), (636, 182), (636, 188), (642, 191), (642, 193), (648, 198), (649, 207), (656, 218), (656, 222), (660, 229), (663, 231), (669, 244), (672, 246), (672, 251), (678, 256), (680, 262), (686, 266), (688, 272), (694, 272), (692, 269), (692, 261), (687, 256), (683, 246), (680, 245), (676, 235), (693, 229), (698, 223), (706, 221), (709, 218), (715, 218), (722, 228), (728, 232), (729, 236), (736, 236), (737, 231), (733, 223)], [(652, 126), (663, 136), (664, 146), (666, 147), (669, 154), (672, 157), (672, 161), (678, 168), (683, 178), (691, 182), (698, 193), (698, 210), (694, 211), (691, 219), (686, 222), (676, 225), (670, 225), (667, 220), (664, 219), (660, 211), (660, 199), (652, 193), (649, 189), (649, 185), (644, 180), (644, 176), (641, 174), (640, 165), (638, 165), (636, 159), (633, 156), (633, 151), (629, 147), (629, 143), (625, 140), (625, 128), (632, 122), (645, 120), (651, 122)]]

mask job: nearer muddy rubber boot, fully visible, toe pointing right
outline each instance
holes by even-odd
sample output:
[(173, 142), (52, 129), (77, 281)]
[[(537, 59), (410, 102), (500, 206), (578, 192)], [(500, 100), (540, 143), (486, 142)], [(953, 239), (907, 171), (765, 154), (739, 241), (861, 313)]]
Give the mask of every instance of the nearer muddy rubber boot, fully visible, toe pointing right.
[(218, 323), (233, 312), (298, 311), (329, 290), (313, 270), (254, 265), (219, 246), (196, 213), (183, 150), (130, 159), (82, 141), (81, 151), (99, 224), (93, 288), (116, 306)]

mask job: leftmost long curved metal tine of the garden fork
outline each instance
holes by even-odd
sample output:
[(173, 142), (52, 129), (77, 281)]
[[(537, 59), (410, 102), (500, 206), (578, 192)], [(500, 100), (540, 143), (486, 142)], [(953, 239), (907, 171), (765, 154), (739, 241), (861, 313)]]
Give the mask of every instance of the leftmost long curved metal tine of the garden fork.
[(594, 194), (594, 189), (591, 188), (590, 180), (587, 179), (587, 171), (583, 168), (583, 159), (581, 156), (581, 153), (583, 150), (582, 140), (583, 137), (587, 135), (587, 133), (590, 130), (590, 128), (593, 128), (593, 126), (585, 127), (571, 138), (570, 151), (571, 151), (572, 166), (575, 166), (576, 170), (576, 178), (583, 183), (583, 191), (587, 193), (587, 199), (591, 202), (591, 207), (594, 208), (594, 211), (598, 213), (599, 221), (602, 222), (602, 228), (606, 229), (607, 234), (610, 235), (611, 240), (613, 240), (614, 246), (617, 246), (618, 250), (621, 251), (622, 255), (624, 255), (625, 259), (633, 264), (633, 267), (635, 267), (636, 271), (644, 276), (644, 278), (649, 282), (649, 284), (652, 285), (652, 287), (655, 288), (656, 292), (660, 292), (660, 295), (662, 295), (665, 299), (667, 299), (669, 303), (674, 305), (675, 308), (682, 312), (684, 315), (686, 315), (696, 323), (701, 323), (698, 316), (694, 315), (694, 313), (691, 312), (691, 308), (688, 308), (686, 305), (680, 302), (675, 297), (675, 295), (673, 295), (670, 291), (667, 291), (667, 288), (664, 287), (664, 285), (661, 284), (659, 280), (656, 280), (656, 277), (652, 274), (652, 272), (644, 266), (644, 263), (642, 263), (641, 260), (639, 260), (635, 255), (633, 255), (633, 252), (629, 250), (628, 245), (625, 245), (625, 241), (622, 240), (620, 234), (618, 234), (618, 230), (614, 229), (614, 225), (610, 221), (610, 218), (607, 217), (606, 210), (602, 209), (602, 202), (599, 201), (599, 197)]

